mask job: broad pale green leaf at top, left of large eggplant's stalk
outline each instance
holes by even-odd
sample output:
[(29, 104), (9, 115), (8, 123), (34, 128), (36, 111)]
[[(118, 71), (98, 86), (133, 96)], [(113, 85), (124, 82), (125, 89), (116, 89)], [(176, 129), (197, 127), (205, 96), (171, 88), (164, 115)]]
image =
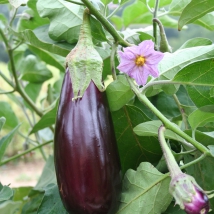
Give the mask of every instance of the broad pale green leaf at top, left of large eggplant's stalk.
[(38, 0), (37, 9), (41, 17), (50, 19), (51, 39), (70, 44), (77, 42), (82, 24), (82, 6), (62, 0)]

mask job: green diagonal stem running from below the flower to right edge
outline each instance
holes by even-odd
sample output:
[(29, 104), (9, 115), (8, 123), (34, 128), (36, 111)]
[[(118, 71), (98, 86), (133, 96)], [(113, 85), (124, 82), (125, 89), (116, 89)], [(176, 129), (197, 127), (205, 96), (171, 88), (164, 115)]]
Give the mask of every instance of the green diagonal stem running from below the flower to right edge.
[(201, 143), (196, 141), (195, 139), (192, 139), (189, 135), (184, 133), (178, 126), (176, 126), (174, 123), (170, 122), (150, 101), (149, 99), (145, 96), (145, 94), (141, 94), (139, 89), (136, 87), (134, 82), (132, 81), (131, 78), (127, 76), (127, 80), (131, 86), (131, 89), (134, 91), (134, 93), (137, 95), (138, 99), (140, 102), (144, 103), (164, 124), (164, 126), (178, 134), (180, 137), (185, 139), (187, 142), (191, 143), (195, 148), (197, 148), (199, 151), (202, 153), (205, 153), (209, 156), (212, 156), (210, 151), (203, 146)]

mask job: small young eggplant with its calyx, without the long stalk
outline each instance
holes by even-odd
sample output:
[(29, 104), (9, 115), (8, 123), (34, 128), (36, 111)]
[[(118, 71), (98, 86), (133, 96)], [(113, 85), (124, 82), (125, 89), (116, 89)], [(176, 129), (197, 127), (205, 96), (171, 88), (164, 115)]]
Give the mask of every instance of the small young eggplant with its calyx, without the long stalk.
[(173, 178), (170, 192), (187, 214), (206, 214), (209, 212), (209, 200), (195, 179), (184, 173)]

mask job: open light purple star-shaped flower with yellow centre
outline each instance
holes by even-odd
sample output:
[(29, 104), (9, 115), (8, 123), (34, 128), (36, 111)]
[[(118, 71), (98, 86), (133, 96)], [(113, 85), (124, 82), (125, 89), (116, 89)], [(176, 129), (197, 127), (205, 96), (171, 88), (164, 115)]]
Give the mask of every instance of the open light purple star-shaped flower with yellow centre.
[(145, 40), (138, 46), (123, 50), (124, 52), (118, 51), (120, 64), (117, 68), (135, 79), (138, 85), (145, 85), (149, 75), (159, 76), (157, 65), (164, 54), (154, 50), (154, 43), (151, 40)]

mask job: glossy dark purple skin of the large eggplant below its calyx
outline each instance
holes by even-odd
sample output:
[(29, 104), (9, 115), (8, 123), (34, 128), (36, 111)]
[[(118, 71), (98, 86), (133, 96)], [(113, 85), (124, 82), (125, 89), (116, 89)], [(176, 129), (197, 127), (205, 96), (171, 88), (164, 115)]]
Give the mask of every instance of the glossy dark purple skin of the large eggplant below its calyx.
[(67, 69), (56, 120), (54, 158), (62, 202), (69, 213), (114, 214), (120, 162), (105, 93), (93, 82), (72, 101)]

